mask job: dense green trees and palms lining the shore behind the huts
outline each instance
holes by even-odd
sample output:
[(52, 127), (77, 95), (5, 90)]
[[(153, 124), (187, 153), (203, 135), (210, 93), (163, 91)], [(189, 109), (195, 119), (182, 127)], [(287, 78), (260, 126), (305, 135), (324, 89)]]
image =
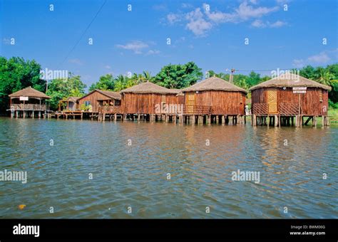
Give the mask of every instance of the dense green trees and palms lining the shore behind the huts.
[[(25, 61), (23, 58), (13, 57), (8, 60), (0, 57), (0, 112), (5, 113), (8, 108), (8, 95), (31, 86), (36, 90), (46, 91), (46, 80), (40, 76), (41, 65), (36, 61)], [(329, 92), (330, 107), (338, 108), (338, 63), (327, 65), (327, 67), (312, 67), (308, 65), (299, 70), (299, 74), (305, 78), (315, 80), (325, 85), (330, 85), (332, 91)], [(208, 76), (217, 76), (224, 80), (230, 79), (230, 74), (215, 73), (208, 71)], [(198, 65), (193, 62), (178, 65), (165, 65), (155, 76), (148, 71), (143, 73), (133, 73), (133, 75), (118, 75), (115, 78), (111, 74), (103, 75), (96, 83), (93, 83), (89, 90), (113, 90), (120, 91), (147, 80), (157, 83), (165, 88), (186, 88), (198, 80), (203, 79), (203, 73)], [(269, 76), (261, 77), (259, 73), (251, 72), (249, 75), (233, 75), (233, 83), (248, 90), (253, 85), (257, 85)], [(84, 95), (86, 85), (81, 81), (79, 75), (69, 73), (68, 78), (55, 79), (48, 81), (47, 95), (51, 96), (50, 105), (53, 109), (58, 106), (58, 101), (71, 96), (81, 97)]]

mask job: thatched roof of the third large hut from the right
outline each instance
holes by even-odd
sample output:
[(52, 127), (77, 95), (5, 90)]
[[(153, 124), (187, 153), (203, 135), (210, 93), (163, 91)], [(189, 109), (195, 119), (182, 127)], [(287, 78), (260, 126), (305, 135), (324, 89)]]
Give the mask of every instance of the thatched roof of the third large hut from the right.
[(159, 93), (159, 94), (178, 94), (180, 90), (178, 89), (168, 89), (163, 88), (160, 85), (155, 83), (140, 83), (138, 85), (134, 85), (131, 88), (127, 88), (125, 90), (121, 90), (121, 93)]

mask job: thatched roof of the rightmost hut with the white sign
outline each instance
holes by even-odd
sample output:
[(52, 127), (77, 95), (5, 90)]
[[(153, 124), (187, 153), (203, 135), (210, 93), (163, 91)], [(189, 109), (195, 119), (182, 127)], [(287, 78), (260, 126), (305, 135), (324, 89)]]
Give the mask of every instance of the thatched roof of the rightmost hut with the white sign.
[(300, 75), (293, 73), (285, 73), (279, 75), (271, 80), (267, 80), (264, 83), (253, 86), (250, 90), (256, 90), (259, 88), (294, 88), (294, 87), (307, 87), (307, 88), (322, 88), (324, 90), (331, 90), (331, 87), (328, 85), (323, 85), (315, 82), (314, 80), (309, 80), (303, 78)]

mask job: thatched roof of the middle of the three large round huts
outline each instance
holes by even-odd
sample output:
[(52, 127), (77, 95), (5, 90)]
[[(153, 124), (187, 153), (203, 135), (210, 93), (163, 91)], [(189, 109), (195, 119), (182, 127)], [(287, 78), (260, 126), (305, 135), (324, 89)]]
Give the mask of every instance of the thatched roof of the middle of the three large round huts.
[(195, 91), (205, 91), (205, 90), (223, 90), (230, 92), (242, 92), (247, 93), (246, 90), (237, 87), (237, 85), (233, 85), (226, 80), (221, 78), (217, 78), (213, 76), (212, 78), (205, 79), (200, 83), (196, 83), (191, 85), (188, 88), (184, 88), (182, 91), (185, 92), (195, 92)]

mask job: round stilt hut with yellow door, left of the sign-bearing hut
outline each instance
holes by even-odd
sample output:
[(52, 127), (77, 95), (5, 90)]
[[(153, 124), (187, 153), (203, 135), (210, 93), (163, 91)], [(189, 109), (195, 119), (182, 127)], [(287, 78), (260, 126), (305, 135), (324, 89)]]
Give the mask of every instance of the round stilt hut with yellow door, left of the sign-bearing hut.
[(185, 95), (185, 121), (228, 123), (245, 122), (245, 96), (247, 91), (212, 77), (182, 90)]

